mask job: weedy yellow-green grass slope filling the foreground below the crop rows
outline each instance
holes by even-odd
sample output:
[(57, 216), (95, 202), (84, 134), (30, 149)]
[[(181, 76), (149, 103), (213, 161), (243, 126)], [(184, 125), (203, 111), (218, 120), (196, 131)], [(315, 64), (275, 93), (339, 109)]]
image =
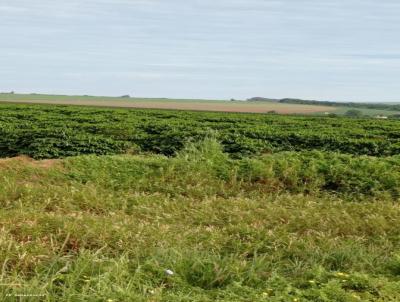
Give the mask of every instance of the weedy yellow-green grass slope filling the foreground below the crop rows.
[(0, 170), (5, 301), (400, 300), (398, 157), (231, 161), (210, 140)]

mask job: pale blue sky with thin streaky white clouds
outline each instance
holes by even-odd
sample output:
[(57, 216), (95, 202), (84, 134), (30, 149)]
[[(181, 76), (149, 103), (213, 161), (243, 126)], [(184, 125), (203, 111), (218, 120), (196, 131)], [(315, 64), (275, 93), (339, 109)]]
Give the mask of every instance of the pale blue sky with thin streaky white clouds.
[(0, 0), (0, 91), (400, 101), (399, 0)]

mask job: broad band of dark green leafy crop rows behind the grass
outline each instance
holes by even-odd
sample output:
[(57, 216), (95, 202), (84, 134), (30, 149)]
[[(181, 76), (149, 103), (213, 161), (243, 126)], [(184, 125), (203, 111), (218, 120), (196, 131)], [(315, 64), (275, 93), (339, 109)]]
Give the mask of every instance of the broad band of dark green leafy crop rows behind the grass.
[(305, 150), (371, 156), (400, 153), (400, 122), (390, 120), (0, 105), (0, 157), (173, 155), (187, 142), (210, 133), (234, 158)]

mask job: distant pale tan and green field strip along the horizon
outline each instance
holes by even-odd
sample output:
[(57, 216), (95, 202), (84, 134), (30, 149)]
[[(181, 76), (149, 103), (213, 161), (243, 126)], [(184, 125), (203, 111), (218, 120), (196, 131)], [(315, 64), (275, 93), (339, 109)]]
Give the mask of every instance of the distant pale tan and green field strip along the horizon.
[[(391, 116), (400, 114), (398, 110), (371, 109), (364, 107), (323, 106), (323, 103), (300, 104), (285, 103), (278, 100), (270, 101), (227, 101), (227, 100), (201, 100), (201, 99), (167, 99), (167, 98), (132, 98), (132, 97), (98, 97), (98, 96), (67, 96), (47, 94), (14, 94), (0, 93), (0, 102), (14, 104), (42, 104), (42, 105), (75, 105), (111, 108), (132, 109), (169, 109), (191, 111), (216, 111), (236, 113), (270, 113), (277, 114), (302, 114), (326, 115), (333, 113), (344, 115), (348, 110), (358, 110), (364, 116)], [(337, 105), (336, 105), (337, 104)]]

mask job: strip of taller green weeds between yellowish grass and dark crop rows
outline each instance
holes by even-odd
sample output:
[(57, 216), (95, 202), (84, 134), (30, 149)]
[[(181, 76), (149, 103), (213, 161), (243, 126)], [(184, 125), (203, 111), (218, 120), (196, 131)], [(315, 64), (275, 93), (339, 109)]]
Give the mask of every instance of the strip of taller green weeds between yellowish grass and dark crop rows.
[[(281, 152), (230, 159), (215, 138), (192, 143), (176, 157), (71, 158), (71, 177), (173, 196), (228, 196), (243, 189), (265, 193), (334, 194), (347, 200), (400, 199), (400, 157), (330, 152)], [(123, 178), (121, 178), (123, 176)], [(144, 180), (147, 181), (144, 181)], [(167, 181), (168, 180), (168, 181)]]

